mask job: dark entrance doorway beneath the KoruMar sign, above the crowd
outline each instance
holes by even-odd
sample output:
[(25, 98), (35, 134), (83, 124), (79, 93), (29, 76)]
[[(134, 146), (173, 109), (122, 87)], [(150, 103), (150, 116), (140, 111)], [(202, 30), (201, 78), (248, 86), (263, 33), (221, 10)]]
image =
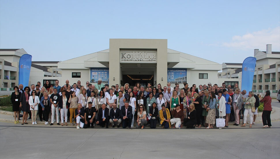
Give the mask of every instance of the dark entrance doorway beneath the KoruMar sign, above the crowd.
[(154, 85), (154, 75), (143, 75), (143, 74), (123, 74), (122, 85), (128, 83), (129, 86), (135, 86), (139, 82), (141, 86), (147, 87), (148, 83)]

